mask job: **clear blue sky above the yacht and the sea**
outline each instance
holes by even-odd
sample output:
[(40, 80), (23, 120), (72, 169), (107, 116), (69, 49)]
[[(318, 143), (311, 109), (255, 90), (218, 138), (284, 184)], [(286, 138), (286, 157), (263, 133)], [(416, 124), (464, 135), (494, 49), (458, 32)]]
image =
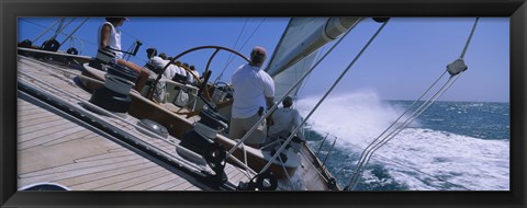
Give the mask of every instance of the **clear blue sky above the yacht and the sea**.
[[(18, 41), (34, 41), (51, 26), (56, 18), (19, 19)], [(366, 50), (332, 96), (350, 92), (373, 92), (382, 100), (415, 100), (456, 60), (467, 42), (474, 18), (394, 18)], [(65, 28), (70, 33), (81, 18)], [(156, 47), (168, 56), (203, 45), (235, 48), (248, 56), (255, 45), (267, 48), (271, 55), (289, 19), (285, 18), (131, 18), (124, 23), (123, 49), (141, 39), (144, 44), (131, 60), (144, 65), (145, 49)], [(96, 33), (103, 18), (91, 18), (75, 36), (82, 39), (74, 46), (82, 55), (94, 56)], [(362, 21), (324, 60), (300, 91), (301, 97), (319, 96), (355, 58), (357, 53), (381, 24), (370, 19)], [(55, 28), (35, 42), (49, 38)], [(66, 35), (59, 34), (58, 42)], [(236, 43), (238, 39), (238, 43)], [(70, 41), (60, 48), (66, 50)], [(82, 47), (83, 46), (83, 47)], [(243, 47), (242, 47), (243, 46)], [(330, 46), (330, 45), (329, 45)], [(327, 50), (329, 46), (323, 48)], [(197, 66), (202, 72), (212, 50), (199, 51), (181, 58)], [(232, 72), (242, 65), (236, 58), (228, 63), (229, 54), (221, 53), (214, 59), (211, 80), (224, 70), (222, 80), (229, 81)], [(509, 100), (509, 20), (508, 18), (482, 18), (467, 50), (464, 60), (469, 69), (447, 91), (445, 101)]]

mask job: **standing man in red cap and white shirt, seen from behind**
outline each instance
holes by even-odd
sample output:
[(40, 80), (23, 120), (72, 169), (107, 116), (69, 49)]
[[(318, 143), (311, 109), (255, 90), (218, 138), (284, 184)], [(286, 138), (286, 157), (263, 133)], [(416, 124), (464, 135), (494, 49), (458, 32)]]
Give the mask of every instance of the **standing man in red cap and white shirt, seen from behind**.
[[(233, 109), (229, 125), (229, 138), (242, 139), (265, 113), (274, 100), (274, 81), (261, 70), (266, 60), (266, 49), (256, 46), (250, 53), (250, 62), (240, 66), (232, 76)], [(245, 140), (245, 143), (258, 148), (267, 138), (266, 120)]]

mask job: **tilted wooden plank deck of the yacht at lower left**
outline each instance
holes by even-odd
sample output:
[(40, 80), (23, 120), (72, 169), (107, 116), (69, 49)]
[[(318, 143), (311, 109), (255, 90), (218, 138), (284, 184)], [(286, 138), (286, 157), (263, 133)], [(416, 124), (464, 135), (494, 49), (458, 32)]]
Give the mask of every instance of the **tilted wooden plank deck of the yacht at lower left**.
[[(79, 70), (46, 66), (45, 62), (19, 58), (19, 81), (60, 97), (77, 111), (90, 93), (79, 88), (74, 78)], [(64, 70), (64, 71), (63, 71)], [(31, 95), (19, 93), (18, 99), (18, 186), (52, 182), (74, 190), (201, 190), (211, 189), (201, 181), (159, 162), (145, 152), (111, 139), (108, 134), (87, 127), (65, 113), (35, 102)], [(152, 138), (136, 129), (138, 120), (132, 116), (99, 115), (83, 112), (122, 130), (130, 137), (168, 153), (176, 161), (201, 171), (211, 171), (186, 161), (177, 154), (179, 140)], [(66, 115), (66, 116), (65, 116)], [(229, 164), (225, 173), (231, 183), (248, 181), (243, 170)]]

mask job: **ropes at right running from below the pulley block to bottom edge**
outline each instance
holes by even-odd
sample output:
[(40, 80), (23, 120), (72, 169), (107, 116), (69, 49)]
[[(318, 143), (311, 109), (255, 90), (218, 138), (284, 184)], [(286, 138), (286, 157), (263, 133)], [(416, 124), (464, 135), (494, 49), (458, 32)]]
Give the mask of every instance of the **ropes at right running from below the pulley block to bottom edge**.
[[(451, 77), (452, 78), (452, 77)], [(381, 148), (382, 146), (384, 146), (385, 143), (388, 143), (388, 141), (390, 141), (391, 139), (393, 139), (397, 134), (400, 134), (404, 128), (406, 128), (413, 120), (415, 120), (423, 112), (425, 112), (431, 104), (435, 103), (435, 101), (437, 99), (439, 99), (439, 96), (441, 96), (452, 84), (453, 82), (459, 78), (458, 76), (452, 80), (452, 79), (449, 79), (444, 85), (442, 88), (436, 92), (434, 94), (433, 97), (430, 97), (430, 100), (428, 100), (425, 104), (423, 104), (416, 112), (414, 112), (414, 114), (408, 118), (406, 119), (399, 128), (394, 129), (389, 136), (386, 136), (384, 139), (381, 140), (380, 143), (375, 145), (374, 149), (372, 149), (370, 152), (368, 152), (366, 159), (363, 159), (362, 163), (360, 166), (358, 166), (356, 169), (356, 174), (354, 174), (354, 186), (352, 188), (355, 188), (358, 184), (358, 178), (360, 177), (360, 175), (362, 174), (363, 172), (363, 167), (366, 166), (366, 164), (368, 164), (368, 162), (370, 161), (371, 157), (373, 155), (373, 153), (379, 149)], [(446, 88), (445, 88), (446, 86)], [(348, 187), (350, 186), (351, 183), (348, 184)]]

